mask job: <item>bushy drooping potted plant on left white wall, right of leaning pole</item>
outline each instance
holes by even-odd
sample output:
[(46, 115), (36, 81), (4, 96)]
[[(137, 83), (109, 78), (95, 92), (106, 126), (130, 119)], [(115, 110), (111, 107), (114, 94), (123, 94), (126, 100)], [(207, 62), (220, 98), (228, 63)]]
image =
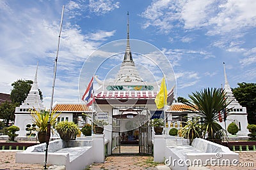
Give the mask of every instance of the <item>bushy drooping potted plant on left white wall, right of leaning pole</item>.
[(56, 131), (60, 134), (60, 138), (64, 141), (69, 141), (70, 139), (76, 139), (77, 134), (80, 133), (78, 125), (74, 122), (63, 121), (59, 122), (55, 126)]

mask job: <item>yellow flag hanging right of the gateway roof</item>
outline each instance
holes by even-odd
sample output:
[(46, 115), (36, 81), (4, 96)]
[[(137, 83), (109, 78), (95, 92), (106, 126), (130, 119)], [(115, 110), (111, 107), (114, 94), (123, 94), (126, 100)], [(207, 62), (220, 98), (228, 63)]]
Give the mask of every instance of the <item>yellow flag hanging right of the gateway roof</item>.
[(167, 89), (165, 84), (165, 78), (163, 78), (159, 93), (157, 94), (155, 99), (157, 109), (164, 107), (164, 105), (167, 103), (166, 99), (167, 99)]

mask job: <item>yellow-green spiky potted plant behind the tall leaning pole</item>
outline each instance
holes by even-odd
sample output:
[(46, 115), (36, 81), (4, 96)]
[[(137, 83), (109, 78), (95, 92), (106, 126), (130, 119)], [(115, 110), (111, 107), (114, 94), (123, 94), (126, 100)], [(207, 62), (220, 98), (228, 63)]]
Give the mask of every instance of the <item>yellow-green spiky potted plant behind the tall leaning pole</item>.
[[(42, 110), (42, 111), (37, 111), (37, 110), (31, 110), (31, 117), (32, 117), (32, 122), (33, 124), (36, 125), (36, 131), (37, 133), (37, 138), (40, 143), (45, 143), (46, 141), (46, 133), (47, 133), (47, 125), (49, 121), (49, 111), (47, 110)], [(52, 126), (56, 124), (58, 116), (60, 116), (61, 113), (56, 113), (56, 111), (52, 111), (51, 113), (51, 118), (50, 118), (50, 124), (51, 124), (51, 131)]]

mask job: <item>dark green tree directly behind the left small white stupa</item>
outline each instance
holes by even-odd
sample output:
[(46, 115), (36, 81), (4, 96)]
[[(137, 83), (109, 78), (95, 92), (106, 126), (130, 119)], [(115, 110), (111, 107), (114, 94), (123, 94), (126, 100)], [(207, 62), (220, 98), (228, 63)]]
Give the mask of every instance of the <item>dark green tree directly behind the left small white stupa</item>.
[[(29, 94), (29, 90), (31, 89), (31, 85), (33, 84), (32, 80), (17, 80), (12, 83), (12, 92), (10, 98), (13, 103), (19, 103), (25, 101), (26, 97)], [(39, 90), (40, 99), (43, 99), (42, 92)]]

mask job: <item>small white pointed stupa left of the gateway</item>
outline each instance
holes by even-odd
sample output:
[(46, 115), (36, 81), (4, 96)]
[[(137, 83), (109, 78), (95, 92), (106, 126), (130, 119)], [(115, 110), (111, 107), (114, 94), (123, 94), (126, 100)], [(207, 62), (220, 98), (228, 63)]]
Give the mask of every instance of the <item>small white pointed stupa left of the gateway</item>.
[(41, 111), (44, 110), (44, 105), (40, 99), (38, 84), (37, 84), (37, 70), (38, 65), (36, 66), (35, 80), (31, 86), (29, 94), (19, 107), (15, 109), (15, 122), (14, 125), (20, 128), (20, 131), (17, 132), (19, 136), (26, 136), (26, 125), (32, 124), (31, 114), (29, 109)]

